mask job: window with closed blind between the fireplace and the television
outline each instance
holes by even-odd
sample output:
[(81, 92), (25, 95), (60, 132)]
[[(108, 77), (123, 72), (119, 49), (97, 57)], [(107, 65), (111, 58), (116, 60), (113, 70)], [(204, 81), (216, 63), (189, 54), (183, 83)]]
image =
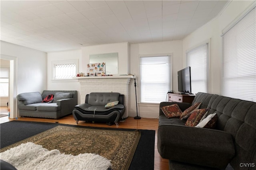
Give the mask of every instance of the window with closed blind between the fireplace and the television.
[(140, 57), (140, 102), (166, 101), (171, 90), (171, 56)]

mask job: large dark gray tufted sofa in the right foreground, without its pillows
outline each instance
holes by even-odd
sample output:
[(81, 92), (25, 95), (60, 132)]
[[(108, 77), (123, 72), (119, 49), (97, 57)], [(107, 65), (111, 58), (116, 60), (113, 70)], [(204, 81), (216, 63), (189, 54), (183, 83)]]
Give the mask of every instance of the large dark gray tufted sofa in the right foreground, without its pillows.
[[(158, 152), (177, 170), (256, 169), (256, 103), (224, 96), (198, 93), (194, 101), (217, 113), (216, 129), (185, 126), (186, 120), (168, 119), (159, 111)], [(160, 107), (178, 104), (184, 111), (188, 103), (162, 102)], [(229, 166), (230, 166), (229, 165)]]

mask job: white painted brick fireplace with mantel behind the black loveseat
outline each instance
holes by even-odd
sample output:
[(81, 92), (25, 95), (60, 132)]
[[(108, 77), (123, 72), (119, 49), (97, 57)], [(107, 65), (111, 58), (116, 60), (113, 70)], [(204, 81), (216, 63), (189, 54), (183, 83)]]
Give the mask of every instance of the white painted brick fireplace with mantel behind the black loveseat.
[(126, 111), (123, 117), (129, 116), (129, 84), (134, 78), (129, 76), (84, 76), (74, 77), (80, 82), (81, 103), (84, 103), (86, 94), (90, 92), (118, 92), (124, 94)]

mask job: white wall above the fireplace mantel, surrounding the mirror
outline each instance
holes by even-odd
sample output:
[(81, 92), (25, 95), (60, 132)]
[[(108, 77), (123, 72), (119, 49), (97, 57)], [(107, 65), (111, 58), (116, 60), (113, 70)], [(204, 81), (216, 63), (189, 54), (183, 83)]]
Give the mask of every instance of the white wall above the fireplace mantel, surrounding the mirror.
[[(82, 72), (86, 73), (86, 65), (89, 63), (89, 55), (118, 53), (118, 74), (129, 74), (128, 43), (112, 43), (82, 47)], [(107, 65), (106, 65), (107, 66)]]

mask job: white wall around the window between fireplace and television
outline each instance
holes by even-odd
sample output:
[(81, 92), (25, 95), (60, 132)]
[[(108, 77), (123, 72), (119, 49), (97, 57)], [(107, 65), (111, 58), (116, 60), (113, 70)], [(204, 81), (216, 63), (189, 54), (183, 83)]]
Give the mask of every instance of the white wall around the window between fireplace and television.
[[(172, 53), (172, 89), (178, 92), (178, 70), (182, 69), (182, 41), (164, 41), (154, 43), (139, 43), (130, 45), (130, 73), (136, 74), (136, 91), (139, 103), (140, 86), (140, 61), (139, 55)], [(167, 93), (167, 92), (166, 92)], [(141, 117), (157, 118), (159, 115), (159, 104), (138, 104), (138, 112)], [(130, 83), (130, 114), (136, 116), (136, 98), (134, 80)]]

